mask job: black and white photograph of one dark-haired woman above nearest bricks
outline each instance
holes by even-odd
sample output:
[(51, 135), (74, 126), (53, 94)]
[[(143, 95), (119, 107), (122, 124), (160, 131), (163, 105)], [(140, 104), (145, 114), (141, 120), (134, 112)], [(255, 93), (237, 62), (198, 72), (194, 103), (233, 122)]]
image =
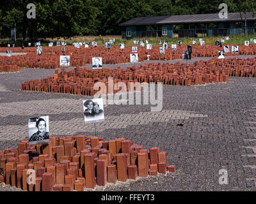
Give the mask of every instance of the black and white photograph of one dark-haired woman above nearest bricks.
[(49, 142), (49, 116), (28, 119), (29, 145)]

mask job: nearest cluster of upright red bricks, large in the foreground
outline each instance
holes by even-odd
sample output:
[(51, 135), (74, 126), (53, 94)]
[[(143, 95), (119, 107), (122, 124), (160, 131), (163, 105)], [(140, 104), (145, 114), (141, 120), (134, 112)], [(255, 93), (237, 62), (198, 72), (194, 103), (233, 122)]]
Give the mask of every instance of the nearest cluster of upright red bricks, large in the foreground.
[(84, 191), (107, 182), (175, 172), (166, 162), (166, 152), (159, 147), (143, 149), (125, 138), (51, 136), (49, 143), (22, 141), (17, 149), (0, 150), (0, 182), (24, 191)]

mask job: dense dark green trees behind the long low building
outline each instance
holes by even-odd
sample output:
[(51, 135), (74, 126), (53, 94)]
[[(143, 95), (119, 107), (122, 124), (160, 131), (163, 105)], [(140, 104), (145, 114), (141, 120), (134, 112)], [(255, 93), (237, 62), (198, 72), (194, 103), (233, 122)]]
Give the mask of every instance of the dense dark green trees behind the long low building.
[[(27, 4), (36, 6), (36, 18), (27, 18)], [(255, 11), (253, 0), (1, 0), (0, 37), (70, 37), (120, 34), (118, 24), (135, 17)]]

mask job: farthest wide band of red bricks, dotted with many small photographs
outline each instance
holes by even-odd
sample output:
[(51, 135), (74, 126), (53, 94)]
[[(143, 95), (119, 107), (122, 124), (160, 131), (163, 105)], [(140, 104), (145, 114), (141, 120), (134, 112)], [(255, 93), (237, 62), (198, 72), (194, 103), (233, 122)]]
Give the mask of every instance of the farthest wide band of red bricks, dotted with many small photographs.
[[(177, 50), (173, 51), (171, 46), (165, 50), (164, 55), (160, 55), (159, 47), (154, 46), (152, 50), (147, 50), (146, 47), (138, 47), (138, 57), (139, 61), (145, 61), (147, 55), (150, 55), (150, 60), (173, 60), (182, 59), (182, 51), (187, 50), (186, 45), (178, 46)], [(232, 45), (229, 45), (230, 50)], [(218, 51), (223, 50), (223, 47), (219, 48), (215, 45), (192, 45), (193, 57), (217, 57)], [(60, 68), (60, 55), (61, 47), (42, 47), (43, 54), (38, 56), (36, 54), (36, 47), (24, 48), (0, 48), (0, 52), (6, 52), (6, 50), (12, 50), (12, 52), (27, 52), (26, 55), (13, 55), (12, 57), (0, 56), (0, 64), (10, 64), (17, 65), (22, 68), (45, 68), (45, 69), (55, 69)], [(92, 57), (102, 57), (103, 64), (120, 64), (130, 62), (130, 54), (132, 53), (132, 46), (125, 47), (121, 50), (118, 46), (111, 47), (110, 50), (103, 46), (99, 47), (89, 47), (89, 48), (75, 48), (72, 46), (67, 46), (65, 48), (65, 55), (70, 55), (70, 67), (80, 67), (85, 66), (85, 64), (92, 64)], [(239, 54), (232, 54), (228, 52), (226, 56), (234, 55), (255, 55), (256, 45), (250, 46), (239, 46)]]

